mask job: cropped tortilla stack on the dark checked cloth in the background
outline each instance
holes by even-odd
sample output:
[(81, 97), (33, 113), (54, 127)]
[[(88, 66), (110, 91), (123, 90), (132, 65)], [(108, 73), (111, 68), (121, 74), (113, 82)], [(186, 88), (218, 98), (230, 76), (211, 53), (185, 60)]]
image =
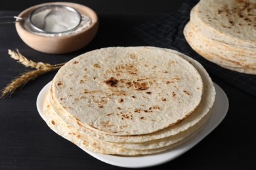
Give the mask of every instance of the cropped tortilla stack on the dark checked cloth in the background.
[(256, 75), (255, 0), (201, 0), (190, 12), (184, 36), (203, 58)]

